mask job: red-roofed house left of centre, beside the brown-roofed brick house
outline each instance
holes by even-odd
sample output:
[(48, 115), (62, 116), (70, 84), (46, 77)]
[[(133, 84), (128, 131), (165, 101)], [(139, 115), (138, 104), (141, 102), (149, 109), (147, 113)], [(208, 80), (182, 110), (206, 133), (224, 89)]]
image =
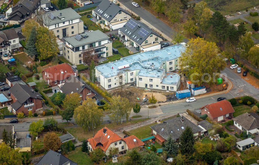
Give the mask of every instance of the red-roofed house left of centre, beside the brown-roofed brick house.
[(58, 64), (52, 67), (48, 67), (42, 70), (42, 78), (51, 87), (57, 84), (62, 84), (66, 81), (66, 78), (70, 76), (77, 76), (78, 71), (68, 63)]

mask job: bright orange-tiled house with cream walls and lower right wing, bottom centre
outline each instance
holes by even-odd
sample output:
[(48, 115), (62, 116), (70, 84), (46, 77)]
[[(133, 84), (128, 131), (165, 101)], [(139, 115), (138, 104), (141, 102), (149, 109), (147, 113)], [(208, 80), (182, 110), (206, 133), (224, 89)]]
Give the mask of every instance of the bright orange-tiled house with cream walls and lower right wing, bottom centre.
[(93, 138), (87, 140), (87, 145), (90, 152), (96, 148), (101, 148), (105, 155), (108, 156), (111, 147), (118, 148), (119, 154), (121, 154), (125, 153), (128, 149), (143, 147), (144, 143), (134, 135), (127, 138), (121, 138), (107, 127), (104, 127), (99, 130)]

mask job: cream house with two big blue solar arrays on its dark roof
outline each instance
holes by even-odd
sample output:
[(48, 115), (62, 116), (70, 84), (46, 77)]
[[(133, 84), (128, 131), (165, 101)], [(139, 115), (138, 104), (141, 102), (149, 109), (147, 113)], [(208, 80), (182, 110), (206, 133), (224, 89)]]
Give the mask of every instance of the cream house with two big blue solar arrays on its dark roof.
[(160, 49), (160, 42), (163, 41), (162, 37), (152, 31), (147, 25), (132, 18), (120, 28), (119, 35), (125, 38), (126, 46), (133, 46), (138, 51)]

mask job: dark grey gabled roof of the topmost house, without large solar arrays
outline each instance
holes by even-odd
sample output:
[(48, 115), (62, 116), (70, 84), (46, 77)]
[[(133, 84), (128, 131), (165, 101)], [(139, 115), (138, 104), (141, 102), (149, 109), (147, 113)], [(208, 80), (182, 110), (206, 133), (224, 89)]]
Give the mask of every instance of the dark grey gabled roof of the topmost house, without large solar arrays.
[[(98, 11), (99, 10), (99, 11)], [(116, 14), (119, 11), (123, 11), (125, 13), (127, 13), (128, 15), (131, 15), (130, 13), (128, 13), (126, 10), (120, 8), (117, 4), (112, 3), (110, 4), (110, 1), (108, 0), (103, 0), (98, 6), (97, 8), (95, 8), (93, 10), (97, 15), (103, 17), (105, 20), (107, 20), (108, 22), (110, 22), (114, 16), (116, 16)], [(102, 12), (100, 12), (102, 11)], [(106, 17), (105, 17), (105, 16)], [(108, 17), (109, 16), (109, 17)], [(108, 17), (108, 18), (107, 18)]]

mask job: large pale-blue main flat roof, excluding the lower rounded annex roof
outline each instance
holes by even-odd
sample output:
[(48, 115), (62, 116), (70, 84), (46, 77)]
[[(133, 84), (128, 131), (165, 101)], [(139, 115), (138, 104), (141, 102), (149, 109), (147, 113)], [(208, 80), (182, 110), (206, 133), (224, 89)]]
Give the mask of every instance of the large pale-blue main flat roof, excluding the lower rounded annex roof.
[[(139, 70), (139, 76), (161, 77), (164, 71), (164, 69), (159, 69), (161, 64), (164, 61), (170, 61), (181, 56), (181, 52), (185, 50), (185, 45), (185, 43), (180, 43), (155, 51), (137, 53), (95, 68), (105, 78), (116, 76), (119, 70), (124, 72)], [(149, 70), (152, 67), (154, 70)]]

